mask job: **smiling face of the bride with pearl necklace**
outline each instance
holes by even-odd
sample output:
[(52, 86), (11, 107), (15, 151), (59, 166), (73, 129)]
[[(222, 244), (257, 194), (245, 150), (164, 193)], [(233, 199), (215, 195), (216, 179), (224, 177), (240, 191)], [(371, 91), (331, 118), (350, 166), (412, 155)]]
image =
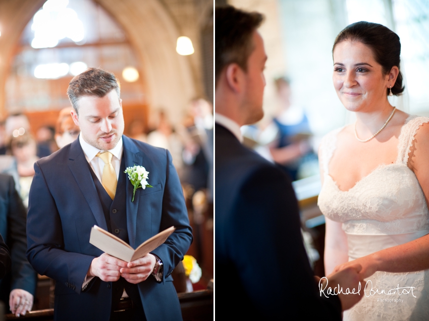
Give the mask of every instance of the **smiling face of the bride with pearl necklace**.
[(361, 42), (343, 41), (334, 49), (333, 81), (337, 95), (352, 112), (371, 112), (387, 100), (388, 75)]

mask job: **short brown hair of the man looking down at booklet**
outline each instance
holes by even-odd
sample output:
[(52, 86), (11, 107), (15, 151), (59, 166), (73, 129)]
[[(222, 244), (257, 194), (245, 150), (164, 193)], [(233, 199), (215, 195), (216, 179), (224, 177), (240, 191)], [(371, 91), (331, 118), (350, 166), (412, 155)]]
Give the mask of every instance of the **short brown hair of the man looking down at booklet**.
[(67, 95), (74, 110), (79, 114), (78, 99), (80, 97), (97, 96), (102, 98), (113, 89), (116, 90), (118, 98), (120, 98), (121, 89), (113, 73), (100, 68), (88, 68), (70, 81)]

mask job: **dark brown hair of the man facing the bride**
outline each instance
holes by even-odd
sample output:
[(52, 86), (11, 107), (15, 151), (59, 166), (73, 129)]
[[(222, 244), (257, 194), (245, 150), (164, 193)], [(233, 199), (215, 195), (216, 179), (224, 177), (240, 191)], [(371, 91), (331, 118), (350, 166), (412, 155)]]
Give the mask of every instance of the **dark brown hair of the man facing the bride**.
[(232, 6), (215, 9), (215, 85), (226, 66), (232, 63), (247, 71), (247, 60), (254, 49), (253, 31), (262, 23), (257, 12), (245, 12)]

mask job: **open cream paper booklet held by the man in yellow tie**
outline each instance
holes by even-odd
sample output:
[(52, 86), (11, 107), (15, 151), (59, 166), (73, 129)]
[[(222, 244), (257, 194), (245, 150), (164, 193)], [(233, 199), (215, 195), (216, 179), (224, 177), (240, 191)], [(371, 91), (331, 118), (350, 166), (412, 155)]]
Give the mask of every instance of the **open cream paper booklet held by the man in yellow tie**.
[(94, 225), (91, 229), (91, 236), (89, 243), (98, 247), (101, 251), (115, 256), (126, 262), (134, 261), (140, 257), (145, 256), (147, 253), (153, 251), (159, 245), (163, 244), (167, 238), (176, 230), (174, 226), (159, 232), (152, 236), (147, 241), (140, 244), (135, 250), (119, 237), (103, 230), (102, 228)]

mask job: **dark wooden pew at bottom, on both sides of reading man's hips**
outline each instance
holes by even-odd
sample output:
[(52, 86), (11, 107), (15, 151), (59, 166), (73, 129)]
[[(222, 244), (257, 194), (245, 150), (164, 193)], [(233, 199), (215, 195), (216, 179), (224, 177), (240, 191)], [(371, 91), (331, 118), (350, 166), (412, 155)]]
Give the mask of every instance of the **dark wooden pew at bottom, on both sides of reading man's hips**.
[[(213, 288), (189, 293), (178, 293), (183, 321), (213, 320)], [(26, 315), (16, 317), (6, 314), (6, 320), (26, 319), (29, 321), (52, 321), (53, 309), (44, 309), (27, 312)]]

